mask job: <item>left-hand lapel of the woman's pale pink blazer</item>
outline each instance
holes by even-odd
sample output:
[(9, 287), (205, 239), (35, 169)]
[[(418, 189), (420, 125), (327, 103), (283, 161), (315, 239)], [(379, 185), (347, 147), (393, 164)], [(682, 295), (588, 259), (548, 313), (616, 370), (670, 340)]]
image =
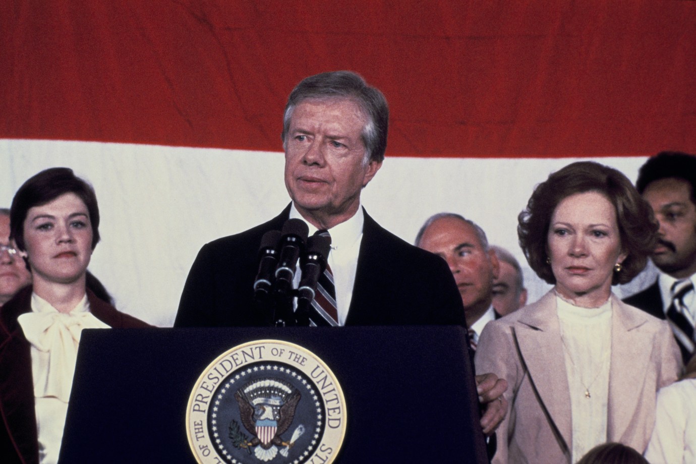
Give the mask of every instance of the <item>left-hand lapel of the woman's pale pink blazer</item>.
[(514, 337), (539, 395), (541, 407), (567, 447), (570, 447), (572, 422), (569, 385), (553, 291), (549, 291), (535, 306), (535, 311), (514, 323)]

